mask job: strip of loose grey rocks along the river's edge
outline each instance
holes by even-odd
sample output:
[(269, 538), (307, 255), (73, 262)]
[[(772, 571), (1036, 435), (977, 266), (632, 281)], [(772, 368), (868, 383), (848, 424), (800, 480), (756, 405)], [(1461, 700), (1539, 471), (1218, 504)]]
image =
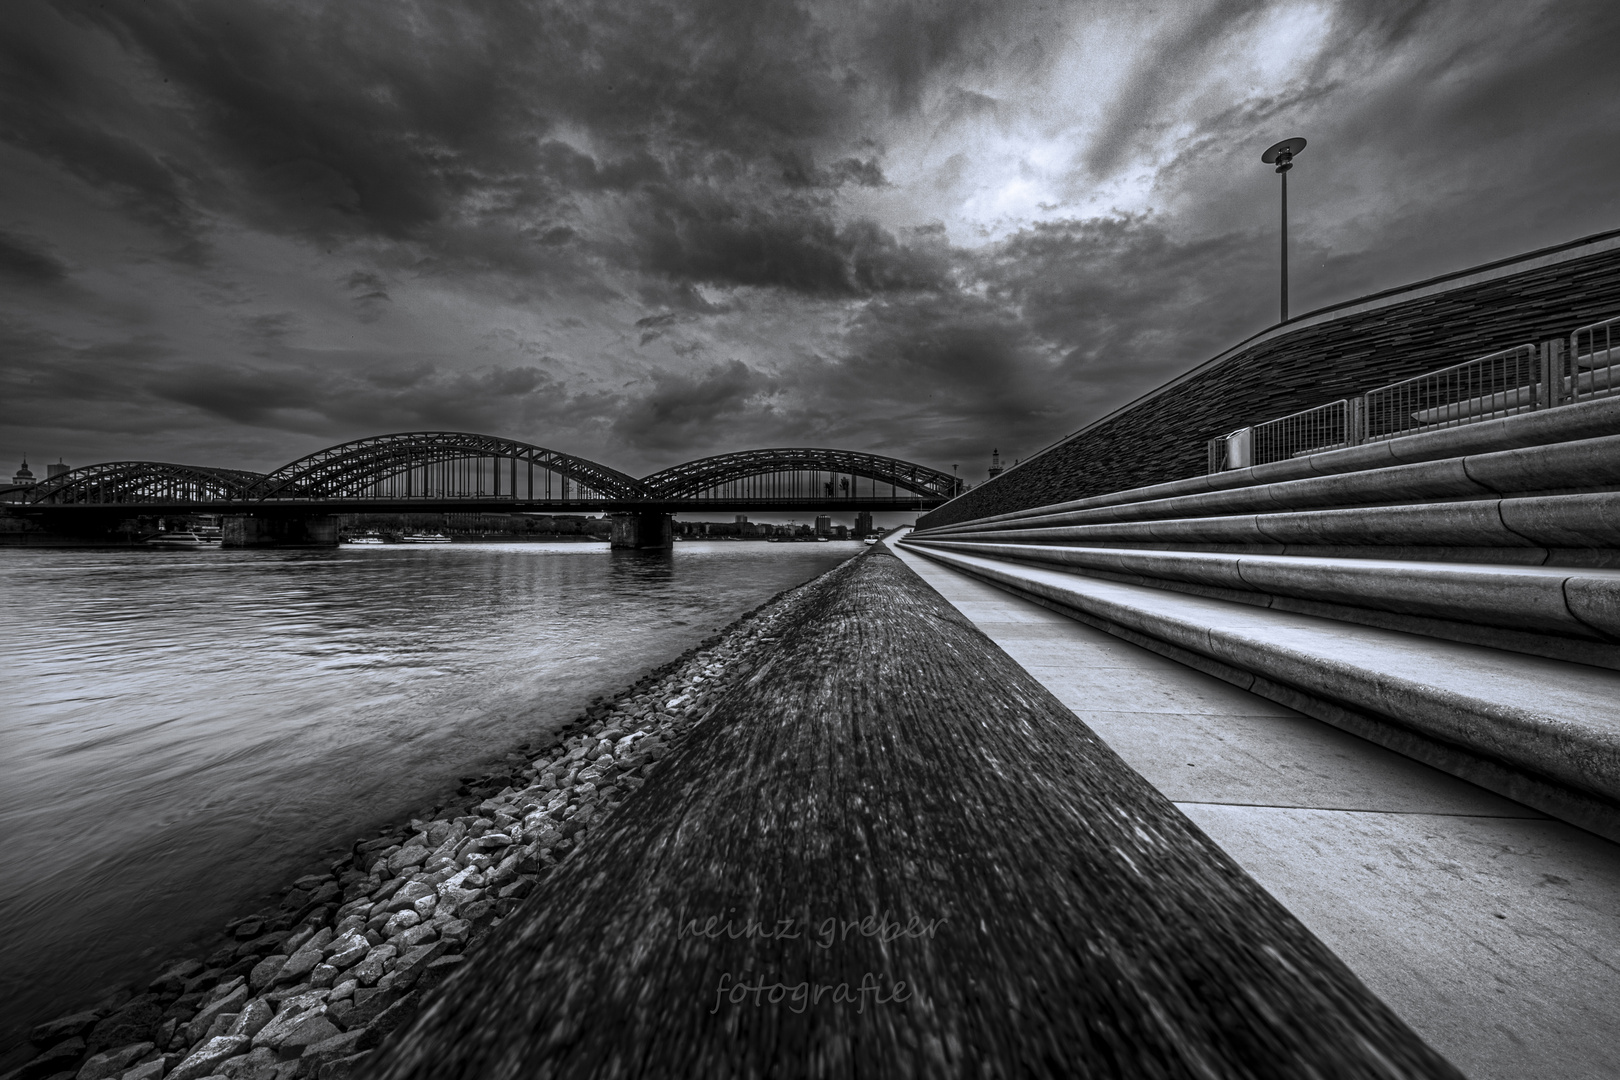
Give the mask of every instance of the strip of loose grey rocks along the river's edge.
[(206, 955), (167, 960), (144, 988), (34, 1027), (37, 1056), (0, 1080), (352, 1075), (539, 879), (590, 844), (747, 675), (818, 578), (595, 699), (507, 755), (504, 771), (463, 777), (431, 818), (356, 840), (277, 907), (227, 923)]

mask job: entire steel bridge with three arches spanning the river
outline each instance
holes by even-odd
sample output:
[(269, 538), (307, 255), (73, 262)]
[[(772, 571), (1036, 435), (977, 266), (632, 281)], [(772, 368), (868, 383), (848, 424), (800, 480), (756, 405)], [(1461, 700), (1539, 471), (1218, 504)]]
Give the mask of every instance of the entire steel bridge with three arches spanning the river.
[(110, 461), (53, 476), (28, 510), (387, 513), (421, 510), (927, 510), (961, 491), (938, 470), (876, 453), (770, 449), (640, 479), (528, 442), (458, 431), (356, 439), (272, 473)]

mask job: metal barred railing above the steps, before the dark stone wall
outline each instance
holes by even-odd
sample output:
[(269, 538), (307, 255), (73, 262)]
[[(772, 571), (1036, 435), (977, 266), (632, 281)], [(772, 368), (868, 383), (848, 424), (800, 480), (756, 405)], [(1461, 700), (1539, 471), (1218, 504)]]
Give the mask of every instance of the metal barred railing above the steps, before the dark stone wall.
[(1513, 345), (1205, 444), (1210, 473), (1571, 405), (1620, 390), (1620, 317)]

